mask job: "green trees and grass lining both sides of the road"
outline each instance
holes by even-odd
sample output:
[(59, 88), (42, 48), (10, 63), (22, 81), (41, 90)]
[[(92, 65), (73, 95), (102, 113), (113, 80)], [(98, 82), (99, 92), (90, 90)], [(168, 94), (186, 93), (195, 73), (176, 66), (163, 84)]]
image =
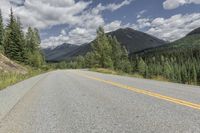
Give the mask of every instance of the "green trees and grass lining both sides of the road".
[[(69, 61), (46, 64), (40, 48), (39, 31), (29, 27), (23, 32), (19, 19), (11, 9), (7, 25), (0, 12), (0, 53), (9, 59), (29, 66), (26, 74), (0, 71), (0, 88), (39, 74), (48, 69), (82, 69), (131, 75), (156, 80), (200, 85), (200, 36), (190, 36), (167, 47), (129, 55), (116, 37), (107, 35), (102, 27), (92, 42), (92, 50), (85, 56)], [(133, 42), (134, 43), (134, 42)]]

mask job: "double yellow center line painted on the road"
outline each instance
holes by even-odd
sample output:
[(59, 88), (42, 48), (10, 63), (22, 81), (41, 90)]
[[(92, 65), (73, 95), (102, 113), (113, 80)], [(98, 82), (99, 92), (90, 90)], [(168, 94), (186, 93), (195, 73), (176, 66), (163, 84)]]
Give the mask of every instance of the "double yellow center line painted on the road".
[(176, 104), (179, 104), (179, 105), (183, 105), (183, 106), (187, 106), (187, 107), (190, 107), (190, 108), (194, 108), (194, 109), (200, 110), (200, 104), (196, 104), (196, 103), (184, 101), (184, 100), (181, 100), (181, 99), (177, 99), (177, 98), (161, 95), (161, 94), (154, 93), (154, 92), (147, 91), (147, 90), (137, 89), (135, 87), (123, 85), (123, 84), (120, 84), (120, 83), (117, 83), (117, 82), (100, 79), (100, 78), (97, 78), (97, 77), (86, 75), (86, 74), (84, 74), (82, 72), (79, 72), (77, 74), (82, 76), (82, 77), (86, 77), (88, 79), (100, 81), (100, 82), (107, 83), (107, 84), (110, 84), (110, 85), (113, 85), (113, 86), (116, 86), (116, 87), (119, 87), (119, 88), (123, 88), (123, 89), (126, 89), (126, 90), (131, 90), (131, 91), (134, 91), (136, 93), (148, 95), (148, 96), (151, 96), (151, 97), (155, 97), (155, 98), (158, 98), (158, 99), (162, 99), (162, 100), (165, 100), (165, 101), (169, 101), (169, 102), (172, 102), (172, 103), (176, 103)]

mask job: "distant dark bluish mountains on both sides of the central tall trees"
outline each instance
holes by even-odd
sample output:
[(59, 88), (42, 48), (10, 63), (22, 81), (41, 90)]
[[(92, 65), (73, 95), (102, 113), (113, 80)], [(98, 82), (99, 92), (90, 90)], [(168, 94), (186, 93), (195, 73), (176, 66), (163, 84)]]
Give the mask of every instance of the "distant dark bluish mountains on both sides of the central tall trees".
[[(144, 49), (155, 48), (166, 44), (154, 36), (133, 30), (131, 28), (118, 29), (107, 35), (115, 36), (122, 46), (125, 46), (129, 53), (135, 53)], [(92, 48), (92, 42), (80, 46), (62, 44), (55, 49), (44, 49), (47, 61), (58, 62), (71, 59), (79, 55), (85, 55)]]

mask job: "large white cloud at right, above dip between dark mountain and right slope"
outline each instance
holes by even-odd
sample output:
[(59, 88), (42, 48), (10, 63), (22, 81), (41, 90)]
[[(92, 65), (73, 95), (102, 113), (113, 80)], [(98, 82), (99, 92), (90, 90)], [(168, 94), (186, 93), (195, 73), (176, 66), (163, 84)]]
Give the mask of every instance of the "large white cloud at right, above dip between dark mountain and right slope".
[(184, 37), (191, 30), (200, 27), (200, 13), (177, 14), (170, 18), (155, 18), (150, 21), (146, 31), (166, 41), (174, 41)]

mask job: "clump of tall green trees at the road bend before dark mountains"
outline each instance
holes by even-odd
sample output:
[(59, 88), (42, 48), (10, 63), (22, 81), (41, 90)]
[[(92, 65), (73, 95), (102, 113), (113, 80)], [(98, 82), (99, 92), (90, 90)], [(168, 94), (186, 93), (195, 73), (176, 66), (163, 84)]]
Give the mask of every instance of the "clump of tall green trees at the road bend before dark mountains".
[(106, 35), (102, 27), (97, 30), (97, 37), (92, 43), (90, 52), (74, 60), (58, 63), (56, 67), (107, 68), (127, 73), (132, 71), (126, 48), (120, 45), (116, 37)]

